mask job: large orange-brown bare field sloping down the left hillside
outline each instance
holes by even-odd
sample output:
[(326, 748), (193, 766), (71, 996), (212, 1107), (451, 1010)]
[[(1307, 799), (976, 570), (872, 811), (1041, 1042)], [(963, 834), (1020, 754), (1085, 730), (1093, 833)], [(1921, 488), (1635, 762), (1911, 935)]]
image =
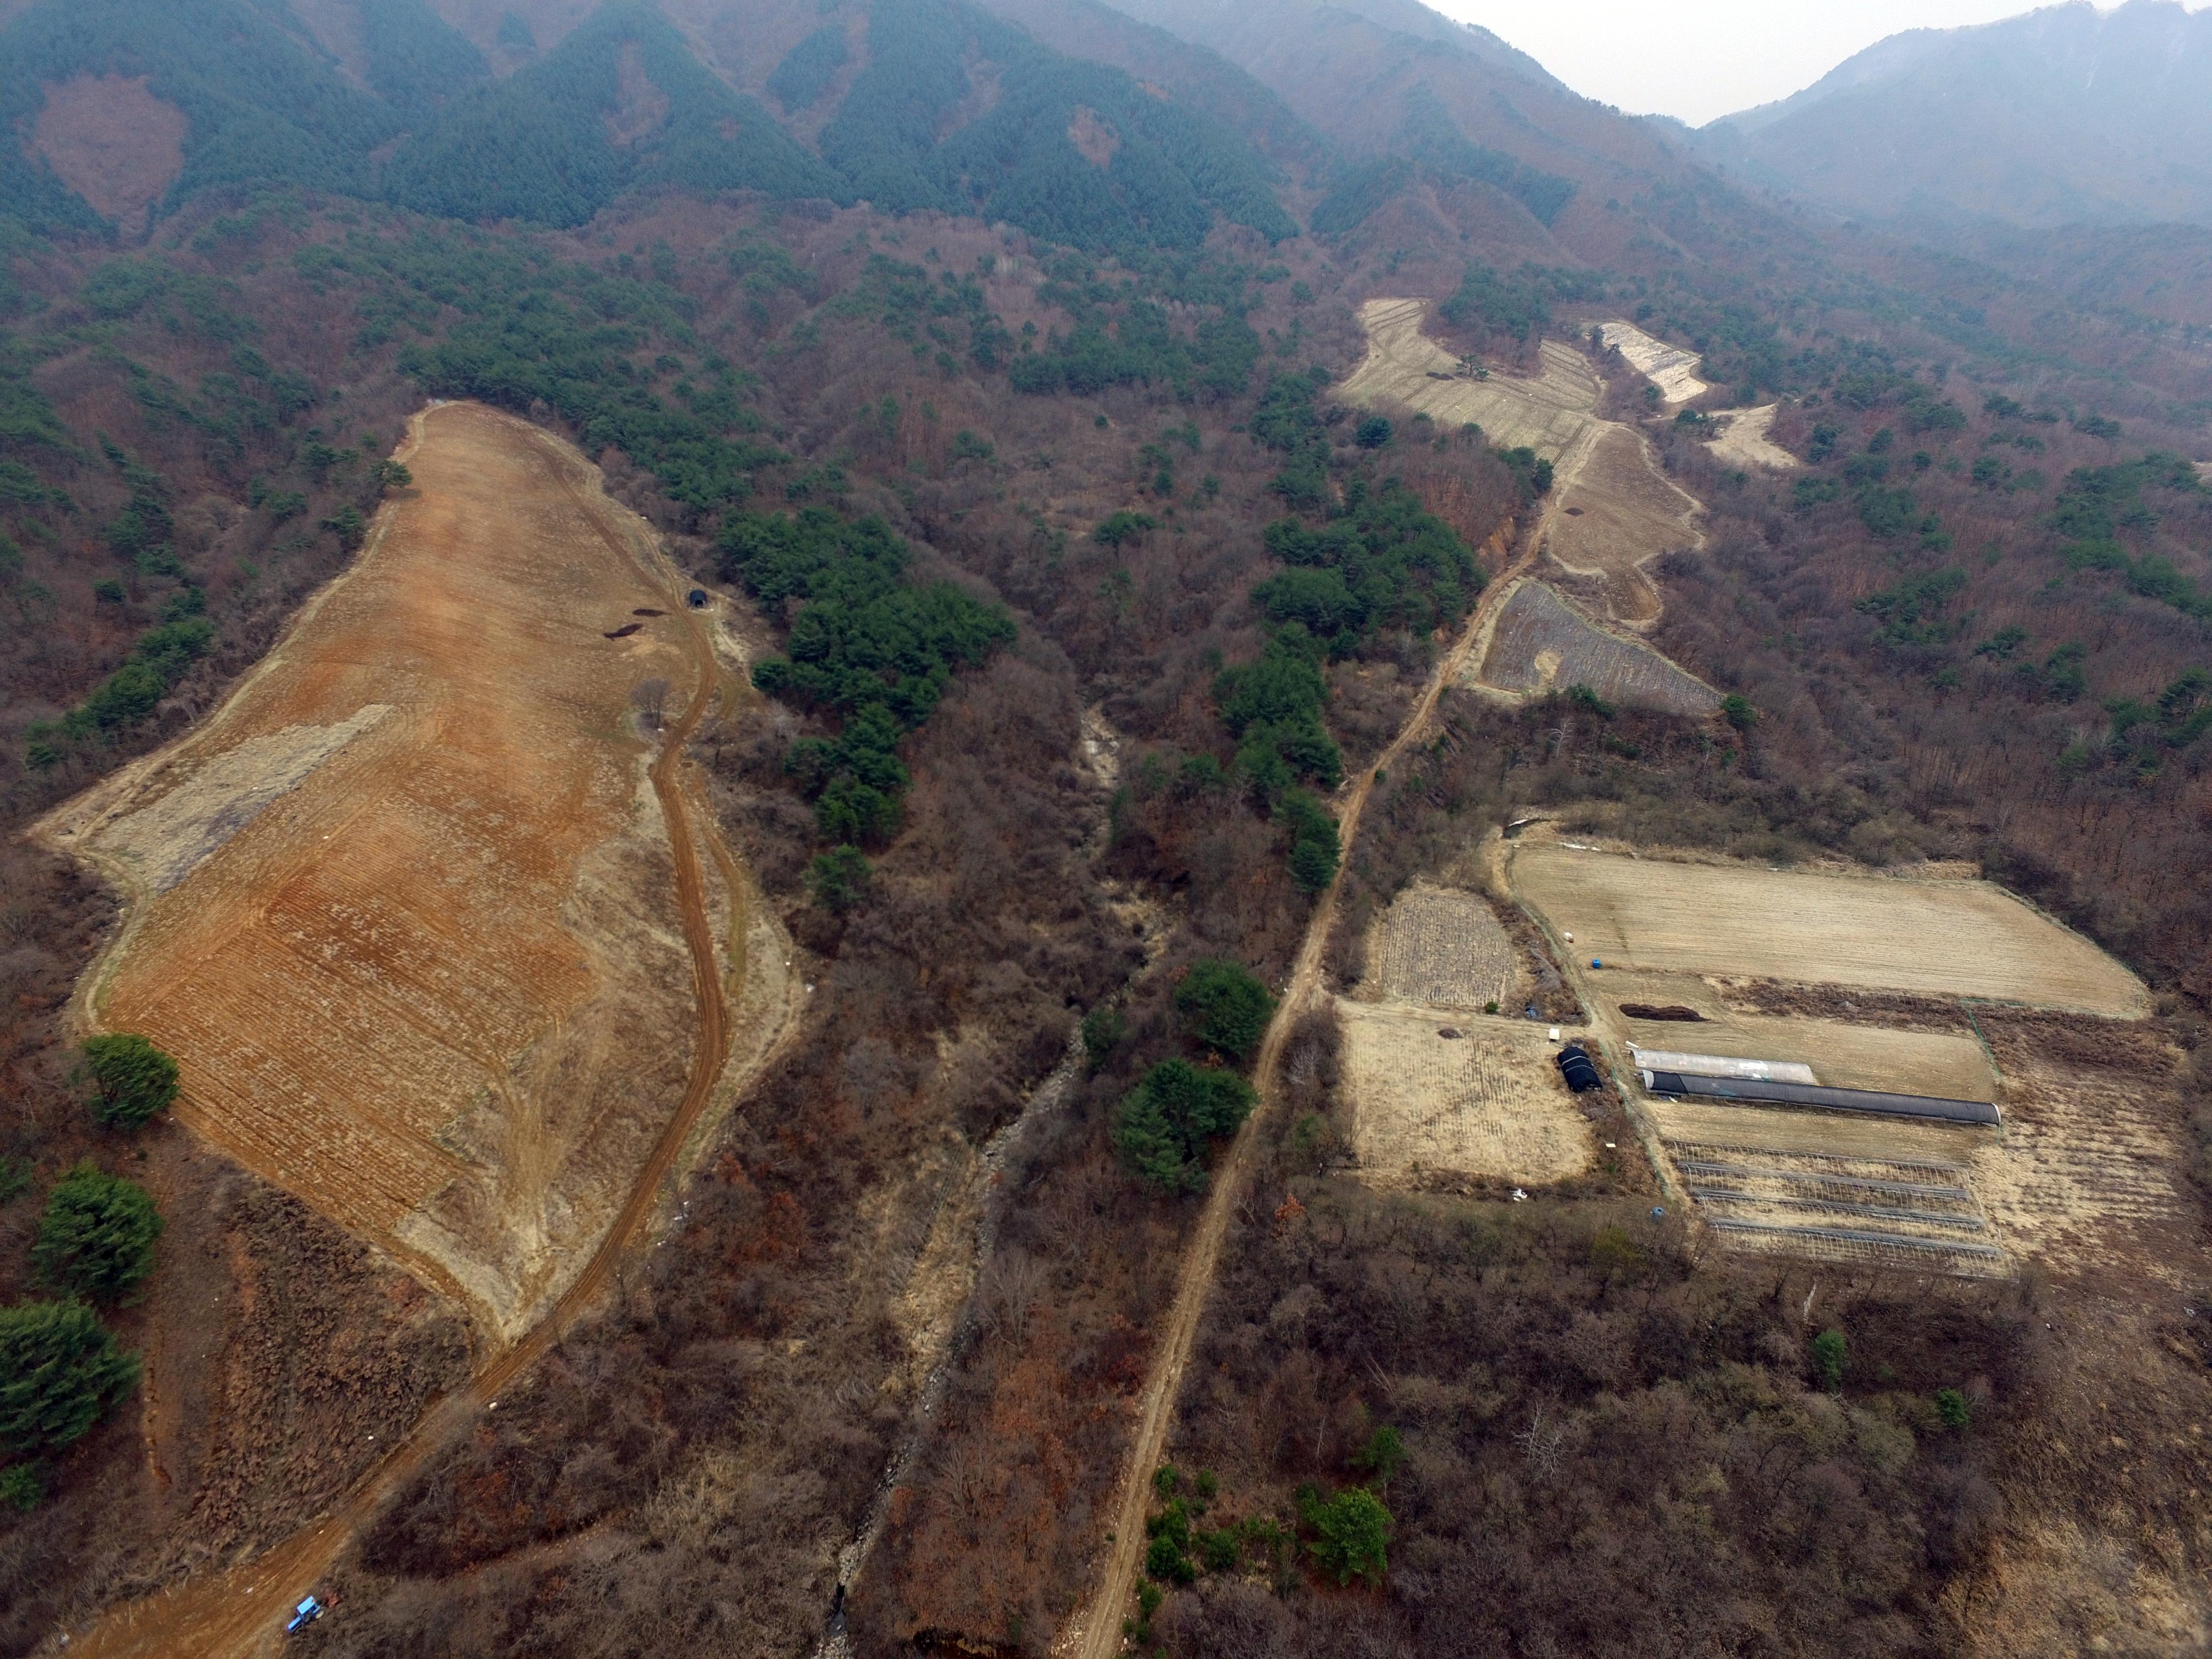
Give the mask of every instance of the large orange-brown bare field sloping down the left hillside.
[(179, 1057), (177, 1115), (513, 1336), (686, 1091), (628, 703), (684, 706), (701, 657), (681, 615), (604, 637), (677, 606), (571, 447), (440, 405), (403, 456), (414, 491), (221, 712), (44, 830), (135, 900), (88, 1000)]

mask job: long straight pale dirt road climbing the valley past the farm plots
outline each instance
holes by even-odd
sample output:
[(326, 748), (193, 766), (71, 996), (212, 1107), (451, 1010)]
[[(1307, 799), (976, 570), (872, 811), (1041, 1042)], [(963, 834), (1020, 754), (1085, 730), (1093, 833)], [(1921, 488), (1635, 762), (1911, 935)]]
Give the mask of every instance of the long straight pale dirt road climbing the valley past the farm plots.
[(1199, 1338), (1199, 1318), (1206, 1314), (1206, 1296), (1221, 1267), (1221, 1245), (1228, 1241), (1230, 1217), (1237, 1214), (1237, 1206), (1243, 1201), (1243, 1188), (1261, 1157), (1261, 1124), (1270, 1117), (1270, 1108), (1279, 1095), (1283, 1044), (1290, 1040), (1290, 1029), (1296, 1024), (1298, 1015), (1323, 989), (1321, 967), (1327, 956), (1329, 929), (1336, 925), (1336, 894), (1338, 887), (1343, 887), (1345, 869), (1352, 865), (1352, 845), (1360, 834), (1360, 816), (1367, 810), (1367, 796), (1374, 792), (1376, 776), (1387, 774), (1394, 765), (1398, 765), (1400, 754), (1422, 741), (1444, 688), (1462, 684), (1469, 657), (1489, 635), (1495, 606), (1500, 606), (1513, 591), (1515, 577), (1526, 575), (1537, 562), (1544, 542), (1551, 538), (1553, 520), (1557, 518), (1559, 502), (1566, 495), (1566, 484), (1573, 482), (1575, 473), (1593, 453), (1593, 445), (1586, 438), (1588, 434), (1584, 434), (1582, 440), (1566, 445), (1557, 465), (1555, 487), (1551, 495), (1544, 498), (1544, 511), (1537, 513), (1537, 520), (1520, 535), (1513, 560), (1506, 568), (1500, 571), (1486, 588), (1482, 588), (1482, 599), (1475, 602), (1475, 608), (1460, 628), (1460, 637), (1453, 641), (1451, 650), (1438, 659), (1436, 672), (1429, 675), (1429, 684), (1422, 690), (1420, 701), (1413, 703), (1413, 710), (1407, 714), (1405, 726), (1398, 728), (1398, 737), (1391, 739), (1391, 745), (1383, 750), (1371, 765), (1360, 768), (1358, 779), (1345, 792), (1343, 810), (1336, 818), (1336, 836), (1343, 843), (1345, 856), (1336, 867), (1336, 878), (1327, 885), (1327, 889), (1323, 889), (1318, 902), (1314, 905), (1314, 916), (1305, 925), (1305, 938), (1298, 942), (1296, 964), (1290, 971), (1290, 984), (1283, 987), (1274, 1020), (1267, 1022), (1267, 1033), (1261, 1037), (1259, 1060), (1252, 1066), (1252, 1082), (1261, 1093), (1259, 1110), (1245, 1119), (1243, 1128), (1237, 1130), (1237, 1139), (1230, 1141), (1230, 1152), (1221, 1159), (1221, 1166), (1214, 1170), (1212, 1186), (1208, 1188), (1206, 1210), (1199, 1214), (1199, 1225), (1190, 1234), (1190, 1243), (1183, 1248), (1183, 1265), (1177, 1274), (1175, 1303), (1168, 1310), (1166, 1327), (1159, 1332), (1159, 1343), (1152, 1349), (1152, 1363), (1144, 1380), (1144, 1394), (1137, 1402), (1137, 1433), (1130, 1440), (1128, 1462), (1121, 1469), (1121, 1495), (1113, 1511), (1113, 1548), (1106, 1555), (1106, 1564), (1099, 1573), (1097, 1586), (1093, 1588), (1091, 1606), (1084, 1610), (1082, 1621), (1071, 1624), (1068, 1635), (1055, 1644), (1055, 1659), (1117, 1659), (1121, 1652), (1121, 1608), (1135, 1590), (1137, 1568), (1144, 1562), (1144, 1511), (1146, 1498), (1152, 1491), (1152, 1471), (1159, 1467), (1161, 1451), (1168, 1444), (1168, 1427), (1175, 1422), (1175, 1400), (1183, 1391), (1183, 1371), (1190, 1365), (1190, 1349)]

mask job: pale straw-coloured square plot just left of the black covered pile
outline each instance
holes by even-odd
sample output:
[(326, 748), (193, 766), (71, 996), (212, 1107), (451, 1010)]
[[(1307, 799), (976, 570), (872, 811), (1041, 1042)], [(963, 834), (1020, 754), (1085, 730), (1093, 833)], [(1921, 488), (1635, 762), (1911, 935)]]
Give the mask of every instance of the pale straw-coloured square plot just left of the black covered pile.
[(1427, 1009), (1343, 1000), (1338, 1013), (1352, 1150), (1367, 1179), (1478, 1175), (1540, 1186), (1590, 1166), (1590, 1126), (1542, 1026), (1480, 1015), (1449, 1024)]

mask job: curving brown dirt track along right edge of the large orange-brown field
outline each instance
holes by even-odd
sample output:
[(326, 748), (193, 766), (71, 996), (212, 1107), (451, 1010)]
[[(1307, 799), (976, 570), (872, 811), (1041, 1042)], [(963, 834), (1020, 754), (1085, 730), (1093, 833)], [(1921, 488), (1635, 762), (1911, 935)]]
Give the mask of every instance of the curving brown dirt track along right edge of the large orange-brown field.
[[(495, 418), (509, 422), (507, 416)], [(416, 416), (414, 429), (418, 436), (422, 420), (425, 416)], [(524, 429), (531, 442), (557, 442), (520, 420), (511, 425)], [(580, 489), (566, 467), (557, 469), (555, 476), (568, 493), (571, 504), (593, 526), (611, 557), (635, 566), (650, 586), (670, 588), (672, 573), (648, 568), (619, 526), (608, 522), (613, 513), (604, 495)], [(385, 511), (389, 513), (392, 509), (387, 507)], [(692, 1044), (684, 1095), (637, 1170), (622, 1210), (615, 1214), (597, 1250), (593, 1250), (575, 1281), (560, 1294), (551, 1310), (518, 1340), (495, 1352), (484, 1369), (462, 1389), (434, 1402), (407, 1438), (374, 1464), (330, 1515), (310, 1522), (281, 1544), (223, 1573), (113, 1608), (71, 1644), (73, 1655), (86, 1655), (88, 1659), (246, 1659), (248, 1655), (274, 1652), (292, 1606), (314, 1588), (316, 1579), (332, 1568), (376, 1513), (451, 1444), (456, 1436), (476, 1422), (504, 1387), (544, 1358), (575, 1318), (606, 1290), (615, 1267), (648, 1230), (659, 1210), (664, 1186), (679, 1172), (677, 1166), (686, 1152), (686, 1144), (706, 1117), (710, 1102), (723, 1093), (726, 1082), (734, 1088), (757, 1077), (781, 1053), (796, 1029), (799, 1004), (794, 980), (787, 973), (772, 973), (768, 975), (770, 995), (765, 1006), (754, 1020), (745, 1022), (752, 1026), (748, 1035), (754, 1035), (757, 1042), (743, 1060), (741, 1077), (734, 1082), (726, 1079), (732, 1035), (732, 1009), (726, 984), (745, 982), (745, 956), (757, 953), (748, 951), (748, 933), (752, 931), (748, 914), (754, 894), (743, 867), (721, 845), (712, 818), (703, 816), (706, 807), (695, 799), (684, 765), (686, 748), (706, 717), (717, 703), (728, 708), (743, 690), (741, 681), (719, 661), (703, 622), (681, 604), (677, 593), (670, 591), (668, 599), (672, 617), (681, 619), (686, 650), (697, 668), (697, 690), (684, 714), (668, 728), (659, 754), (648, 768), (648, 776), (668, 830), (675, 896), (690, 958), (697, 1042)], [(695, 814), (699, 814), (701, 827), (695, 827)], [(706, 872), (699, 858), (701, 841), (728, 887), (730, 980), (723, 978), (708, 911)], [(776, 956), (781, 964), (781, 951)]]

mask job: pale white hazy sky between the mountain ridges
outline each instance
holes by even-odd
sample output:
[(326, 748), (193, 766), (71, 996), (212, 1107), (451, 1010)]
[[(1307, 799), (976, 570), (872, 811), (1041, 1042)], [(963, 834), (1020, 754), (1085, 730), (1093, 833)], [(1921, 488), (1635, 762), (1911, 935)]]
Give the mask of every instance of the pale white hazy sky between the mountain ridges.
[[(1701, 126), (1812, 86), (1900, 29), (1958, 29), (2035, 0), (1429, 0), (1584, 97)], [(2110, 7), (2106, 7), (2110, 9)], [(2199, 7), (2192, 4), (2190, 11)]]

